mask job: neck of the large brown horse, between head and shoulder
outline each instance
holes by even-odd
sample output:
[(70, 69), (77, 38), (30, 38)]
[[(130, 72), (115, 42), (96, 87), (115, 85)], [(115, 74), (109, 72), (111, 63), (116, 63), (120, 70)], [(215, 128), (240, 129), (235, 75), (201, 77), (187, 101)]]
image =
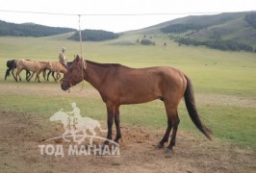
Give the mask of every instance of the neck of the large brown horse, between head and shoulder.
[(96, 89), (101, 85), (108, 67), (97, 64), (96, 62), (87, 62), (87, 69), (85, 71), (85, 80), (94, 86)]

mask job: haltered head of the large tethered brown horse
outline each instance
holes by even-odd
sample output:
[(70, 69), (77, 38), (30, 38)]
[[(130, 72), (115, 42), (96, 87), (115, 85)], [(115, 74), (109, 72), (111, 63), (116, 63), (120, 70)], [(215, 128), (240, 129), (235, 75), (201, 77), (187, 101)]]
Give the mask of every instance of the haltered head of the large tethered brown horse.
[(62, 89), (67, 90), (71, 86), (75, 86), (84, 80), (84, 69), (86, 62), (83, 58), (76, 56), (75, 60), (70, 64), (62, 81)]

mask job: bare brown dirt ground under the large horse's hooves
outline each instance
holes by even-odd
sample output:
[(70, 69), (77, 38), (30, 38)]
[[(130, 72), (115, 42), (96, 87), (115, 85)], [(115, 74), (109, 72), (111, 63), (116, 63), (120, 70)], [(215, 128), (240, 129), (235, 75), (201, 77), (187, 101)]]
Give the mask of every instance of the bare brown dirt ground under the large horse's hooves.
[[(0, 111), (3, 172), (253, 172), (256, 153), (179, 131), (174, 153), (156, 149), (164, 129), (122, 126), (119, 157), (40, 155), (43, 140), (60, 136), (60, 124), (35, 114)], [(105, 135), (103, 135), (105, 136)], [(58, 141), (64, 143), (64, 141)], [(168, 157), (166, 157), (168, 156)]]

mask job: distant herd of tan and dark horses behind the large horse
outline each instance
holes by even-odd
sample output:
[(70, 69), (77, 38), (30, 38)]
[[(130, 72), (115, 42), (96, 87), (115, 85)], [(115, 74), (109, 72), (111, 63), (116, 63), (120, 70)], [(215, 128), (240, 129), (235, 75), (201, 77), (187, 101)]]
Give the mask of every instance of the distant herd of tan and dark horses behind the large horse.
[[(46, 81), (46, 72), (47, 81), (49, 81), (49, 76), (52, 74), (55, 82), (58, 82), (61, 79), (61, 73), (66, 73), (66, 69), (61, 62), (38, 62), (30, 60), (10, 60), (7, 62), (7, 70), (5, 75), (5, 80), (7, 77), (13, 75), (13, 78), (16, 82), (21, 81), (20, 73), (22, 70), (26, 70), (26, 80), (29, 82), (33, 76), (36, 74), (35, 81), (40, 82), (39, 74), (42, 72), (43, 79)], [(54, 76), (55, 72), (57, 73), (56, 77)]]

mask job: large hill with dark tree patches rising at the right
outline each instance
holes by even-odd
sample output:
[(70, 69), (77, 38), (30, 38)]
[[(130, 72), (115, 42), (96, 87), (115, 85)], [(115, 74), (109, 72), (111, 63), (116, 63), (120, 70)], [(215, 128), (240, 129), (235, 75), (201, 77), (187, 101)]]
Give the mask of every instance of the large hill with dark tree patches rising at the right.
[(221, 40), (256, 48), (256, 12), (191, 15), (138, 30), (196, 41)]

